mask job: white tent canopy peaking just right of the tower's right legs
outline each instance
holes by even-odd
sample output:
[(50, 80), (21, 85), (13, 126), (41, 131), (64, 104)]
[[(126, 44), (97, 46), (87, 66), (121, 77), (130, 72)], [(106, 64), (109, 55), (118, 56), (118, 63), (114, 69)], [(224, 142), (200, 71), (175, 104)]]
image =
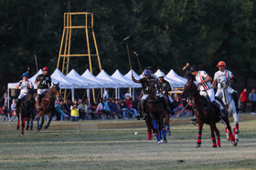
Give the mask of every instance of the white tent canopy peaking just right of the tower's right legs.
[(99, 73), (99, 75), (97, 75), (96, 77), (99, 78), (104, 84), (104, 88), (119, 88), (123, 87), (126, 84), (123, 81), (112, 78), (112, 76), (108, 75), (104, 70), (101, 70), (101, 73)]

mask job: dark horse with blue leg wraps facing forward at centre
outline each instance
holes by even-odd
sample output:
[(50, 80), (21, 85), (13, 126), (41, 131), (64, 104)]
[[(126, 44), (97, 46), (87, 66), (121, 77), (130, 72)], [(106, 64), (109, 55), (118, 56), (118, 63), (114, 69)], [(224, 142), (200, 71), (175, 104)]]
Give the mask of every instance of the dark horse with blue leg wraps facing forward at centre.
[[(146, 124), (148, 129), (154, 129), (157, 144), (162, 142), (167, 143), (166, 131), (164, 128), (165, 106), (163, 101), (157, 95), (157, 84), (155, 80), (150, 81), (149, 96), (146, 101), (146, 111), (149, 115), (146, 119)], [(162, 134), (164, 141), (162, 140)]]

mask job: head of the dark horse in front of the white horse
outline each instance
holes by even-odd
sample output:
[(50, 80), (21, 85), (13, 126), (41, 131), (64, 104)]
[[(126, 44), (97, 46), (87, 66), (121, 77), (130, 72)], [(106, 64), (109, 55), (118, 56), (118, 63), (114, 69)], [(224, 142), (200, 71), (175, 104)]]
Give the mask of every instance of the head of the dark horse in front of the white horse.
[(187, 79), (186, 85), (184, 85), (184, 90), (180, 95), (183, 100), (186, 100), (187, 97), (195, 95), (197, 93), (197, 85), (193, 82), (191, 78)]

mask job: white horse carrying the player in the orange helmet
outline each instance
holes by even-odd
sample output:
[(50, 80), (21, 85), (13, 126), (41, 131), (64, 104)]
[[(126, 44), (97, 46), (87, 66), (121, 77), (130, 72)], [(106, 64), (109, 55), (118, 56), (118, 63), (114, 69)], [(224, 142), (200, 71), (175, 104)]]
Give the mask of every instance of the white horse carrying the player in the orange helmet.
[[(220, 98), (222, 99), (224, 105), (226, 106), (226, 108), (229, 112), (229, 117), (231, 117), (233, 115), (233, 119), (234, 119), (233, 131), (235, 134), (235, 139), (237, 141), (239, 141), (239, 135), (238, 135), (240, 133), (239, 115), (237, 114), (235, 102), (229, 93), (228, 79), (226, 76), (220, 76), (218, 79), (218, 82), (219, 82), (219, 84), (221, 86), (221, 90), (222, 90), (222, 95), (220, 96)], [(223, 121), (222, 121), (222, 123), (223, 123)], [(227, 131), (227, 125), (225, 125), (225, 130), (226, 130), (227, 139), (229, 140), (229, 133)]]

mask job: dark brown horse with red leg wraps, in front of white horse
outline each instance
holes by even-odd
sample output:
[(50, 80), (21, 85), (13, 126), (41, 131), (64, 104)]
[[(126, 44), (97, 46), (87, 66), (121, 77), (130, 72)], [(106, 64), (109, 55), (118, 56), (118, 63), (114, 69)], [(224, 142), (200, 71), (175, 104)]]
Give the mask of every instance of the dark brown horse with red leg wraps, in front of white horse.
[[(197, 85), (194, 84), (193, 80), (189, 79), (187, 81), (187, 84), (184, 86), (184, 90), (181, 94), (181, 97), (183, 99), (186, 99), (187, 97), (192, 97), (195, 108), (197, 109), (197, 112), (195, 113), (195, 115), (197, 116), (198, 125), (197, 147), (201, 146), (202, 129), (204, 124), (208, 124), (210, 126), (213, 147), (220, 147), (219, 130), (216, 126), (216, 123), (218, 123), (220, 120), (218, 112), (214, 108), (214, 106), (208, 104), (208, 99), (205, 96), (199, 94), (197, 90)], [(219, 100), (221, 105), (223, 105), (223, 102), (218, 97), (216, 97), (216, 99)], [(237, 145), (237, 140), (235, 140), (231, 131), (231, 127), (229, 125), (229, 115), (225, 107), (224, 114), (226, 116), (222, 120), (223, 122), (225, 122), (229, 129), (229, 139), (233, 145)], [(217, 135), (217, 145), (214, 132)]]

